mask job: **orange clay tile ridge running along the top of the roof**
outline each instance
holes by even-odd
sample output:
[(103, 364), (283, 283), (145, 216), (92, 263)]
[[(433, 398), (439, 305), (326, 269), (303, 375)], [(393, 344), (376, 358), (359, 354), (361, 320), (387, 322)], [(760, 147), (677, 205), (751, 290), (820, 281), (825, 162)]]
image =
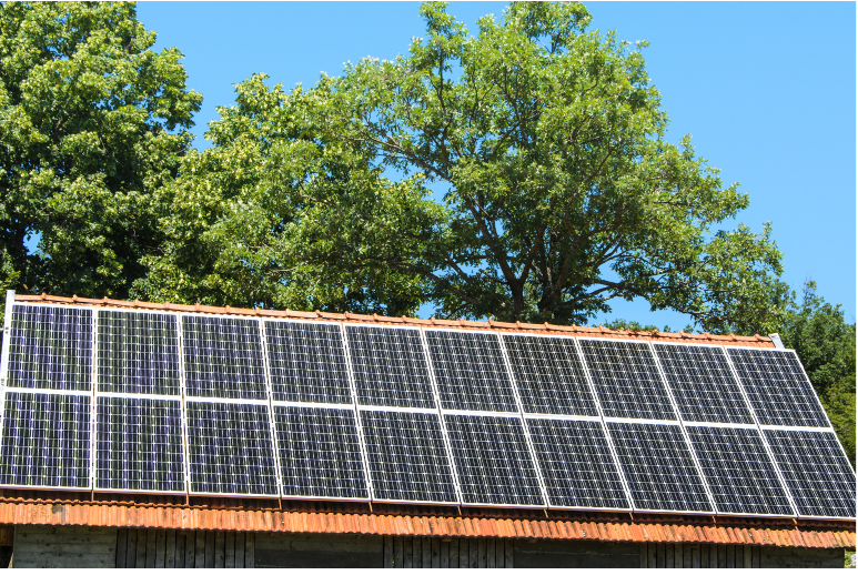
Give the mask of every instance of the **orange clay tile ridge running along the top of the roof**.
[(232, 307), (225, 305), (223, 307), (202, 305), (199, 302), (193, 305), (181, 303), (155, 303), (155, 302), (141, 302), (140, 300), (111, 300), (107, 296), (102, 299), (93, 297), (80, 297), (77, 294), (72, 297), (62, 297), (59, 295), (48, 295), (41, 293), (40, 295), (16, 294), (14, 301), (17, 302), (38, 302), (38, 303), (61, 303), (61, 304), (84, 304), (102, 307), (127, 307), (138, 310), (162, 310), (171, 312), (189, 312), (189, 313), (213, 313), (223, 315), (253, 315), (261, 317), (293, 317), (301, 320), (330, 320), (330, 321), (349, 321), (349, 322), (370, 322), (370, 323), (384, 323), (384, 324), (405, 324), (405, 325), (434, 325), (440, 327), (456, 327), (456, 329), (472, 329), (472, 330), (501, 330), (501, 331), (516, 331), (516, 332), (548, 332), (548, 333), (563, 333), (563, 334), (578, 334), (585, 336), (595, 337), (619, 337), (619, 339), (634, 339), (634, 340), (678, 340), (678, 341), (692, 341), (692, 342), (714, 342), (720, 344), (757, 344), (766, 347), (774, 347), (774, 343), (768, 336), (760, 334), (754, 335), (714, 335), (706, 333), (685, 333), (679, 332), (659, 332), (658, 330), (648, 331), (633, 331), (633, 330), (612, 330), (599, 325), (597, 327), (588, 327), (586, 325), (554, 325), (548, 322), (545, 323), (522, 323), (522, 322), (499, 322), (497, 320), (488, 321), (472, 321), (472, 320), (438, 320), (435, 317), (423, 320), (420, 317), (407, 317), (405, 315), (398, 317), (390, 317), (385, 315), (378, 315), (373, 313), (372, 315), (363, 315), (352, 312), (332, 313), (322, 312), (315, 310), (312, 312), (302, 312), (297, 310), (270, 310), (270, 309), (244, 309)]

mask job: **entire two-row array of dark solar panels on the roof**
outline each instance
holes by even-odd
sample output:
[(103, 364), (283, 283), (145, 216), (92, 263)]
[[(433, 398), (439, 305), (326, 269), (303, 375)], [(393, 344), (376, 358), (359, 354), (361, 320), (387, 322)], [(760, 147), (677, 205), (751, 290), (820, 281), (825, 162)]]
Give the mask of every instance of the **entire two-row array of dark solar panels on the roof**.
[(0, 487), (856, 515), (791, 351), (7, 310)]

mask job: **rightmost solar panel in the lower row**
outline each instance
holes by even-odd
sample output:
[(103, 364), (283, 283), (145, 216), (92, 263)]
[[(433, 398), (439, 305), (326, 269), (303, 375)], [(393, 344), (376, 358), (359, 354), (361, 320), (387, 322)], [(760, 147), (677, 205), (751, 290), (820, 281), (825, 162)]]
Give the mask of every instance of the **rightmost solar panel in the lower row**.
[(799, 516), (855, 518), (855, 471), (828, 431), (764, 430)]

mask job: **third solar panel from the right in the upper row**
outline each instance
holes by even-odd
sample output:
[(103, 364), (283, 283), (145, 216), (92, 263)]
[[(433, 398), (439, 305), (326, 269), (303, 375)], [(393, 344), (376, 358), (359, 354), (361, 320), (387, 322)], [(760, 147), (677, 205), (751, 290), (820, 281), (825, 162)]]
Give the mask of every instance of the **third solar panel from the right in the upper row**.
[(676, 420), (646, 342), (578, 339), (606, 417)]

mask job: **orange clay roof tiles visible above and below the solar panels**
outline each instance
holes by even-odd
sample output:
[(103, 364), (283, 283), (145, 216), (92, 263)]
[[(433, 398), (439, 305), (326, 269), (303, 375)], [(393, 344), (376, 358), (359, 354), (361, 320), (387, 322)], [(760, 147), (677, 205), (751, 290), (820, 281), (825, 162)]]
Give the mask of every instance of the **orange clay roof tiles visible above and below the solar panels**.
[[(17, 302), (774, 347), (769, 337), (16, 295)], [(855, 548), (855, 522), (0, 490), (0, 524)]]

